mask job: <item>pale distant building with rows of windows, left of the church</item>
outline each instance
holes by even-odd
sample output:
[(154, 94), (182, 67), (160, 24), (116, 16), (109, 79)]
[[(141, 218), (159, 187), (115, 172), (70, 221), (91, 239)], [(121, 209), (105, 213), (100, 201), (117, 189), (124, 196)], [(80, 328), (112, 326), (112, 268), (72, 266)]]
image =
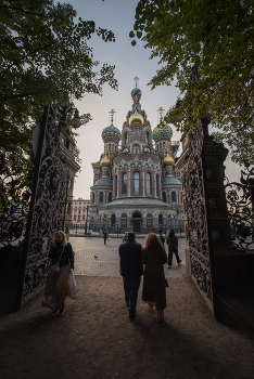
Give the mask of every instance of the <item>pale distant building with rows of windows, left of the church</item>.
[(73, 199), (72, 202), (72, 223), (71, 227), (85, 227), (87, 222), (87, 228), (89, 227), (89, 212), (90, 200)]

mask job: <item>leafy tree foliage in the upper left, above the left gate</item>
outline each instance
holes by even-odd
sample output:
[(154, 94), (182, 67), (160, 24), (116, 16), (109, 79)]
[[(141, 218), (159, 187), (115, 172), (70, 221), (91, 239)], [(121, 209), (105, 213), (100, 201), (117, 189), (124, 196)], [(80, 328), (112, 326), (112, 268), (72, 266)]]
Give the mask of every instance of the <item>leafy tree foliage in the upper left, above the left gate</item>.
[(114, 66), (99, 68), (88, 45), (93, 34), (105, 42), (115, 38), (53, 0), (0, 0), (0, 174), (25, 180), (31, 129), (46, 101), (59, 105), (65, 91), (71, 101), (85, 92), (101, 94), (105, 82), (117, 89)]

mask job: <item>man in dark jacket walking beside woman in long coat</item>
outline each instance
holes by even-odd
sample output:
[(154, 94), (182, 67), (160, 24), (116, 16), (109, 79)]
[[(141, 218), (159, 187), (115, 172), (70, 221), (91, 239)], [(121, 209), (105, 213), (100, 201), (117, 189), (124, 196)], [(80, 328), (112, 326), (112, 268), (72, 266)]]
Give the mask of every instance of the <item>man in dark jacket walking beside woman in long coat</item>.
[(125, 301), (130, 319), (136, 316), (140, 276), (143, 275), (143, 264), (141, 263), (143, 247), (135, 240), (135, 233), (129, 232), (127, 241), (119, 246), (119, 270), (124, 279)]

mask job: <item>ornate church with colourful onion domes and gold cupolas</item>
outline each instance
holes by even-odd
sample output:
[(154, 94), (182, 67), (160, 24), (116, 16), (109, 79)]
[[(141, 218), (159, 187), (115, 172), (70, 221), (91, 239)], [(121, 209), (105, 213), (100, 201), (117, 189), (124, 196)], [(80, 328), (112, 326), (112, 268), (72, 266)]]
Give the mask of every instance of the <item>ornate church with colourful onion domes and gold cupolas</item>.
[(161, 121), (152, 130), (141, 109), (141, 90), (131, 91), (132, 108), (119, 131), (111, 110), (111, 126), (103, 129), (104, 152), (91, 164), (90, 227), (109, 233), (147, 234), (182, 225), (180, 172), (175, 167), (179, 148), (173, 129)]

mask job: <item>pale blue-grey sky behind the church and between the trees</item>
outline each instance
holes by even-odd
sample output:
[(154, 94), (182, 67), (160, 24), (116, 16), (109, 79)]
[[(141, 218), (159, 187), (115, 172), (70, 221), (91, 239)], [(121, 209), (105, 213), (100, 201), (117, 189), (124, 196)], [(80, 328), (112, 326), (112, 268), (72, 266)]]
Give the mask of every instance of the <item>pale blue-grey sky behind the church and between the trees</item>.
[[(138, 0), (69, 0), (77, 11), (77, 16), (86, 21), (94, 21), (97, 27), (110, 29), (115, 34), (115, 42), (104, 42), (93, 36), (88, 40), (92, 48), (93, 57), (101, 64), (115, 65), (115, 78), (118, 80), (118, 91), (103, 87), (102, 96), (86, 94), (75, 102), (79, 114), (90, 113), (92, 120), (81, 126), (77, 132), (77, 147), (80, 149), (81, 170), (77, 173), (74, 185), (74, 198), (90, 199), (90, 186), (93, 184), (91, 162), (100, 159), (103, 153), (102, 130), (111, 125), (110, 110), (114, 109), (114, 126), (122, 131), (128, 110), (131, 109), (131, 90), (135, 88), (135, 77), (139, 78), (138, 87), (142, 91), (141, 107), (145, 110), (152, 129), (158, 123), (160, 107), (167, 110), (176, 104), (179, 91), (176, 87), (162, 86), (151, 91), (148, 86), (151, 78), (160, 68), (157, 60), (150, 60), (151, 50), (144, 49), (142, 41), (131, 45), (129, 31), (135, 23), (135, 10)], [(174, 126), (173, 141), (180, 140), (181, 133)], [(209, 128), (209, 132), (213, 129)], [(180, 149), (178, 156), (180, 154)], [(226, 175), (229, 181), (239, 181), (240, 167), (231, 162), (228, 157), (225, 161)]]

